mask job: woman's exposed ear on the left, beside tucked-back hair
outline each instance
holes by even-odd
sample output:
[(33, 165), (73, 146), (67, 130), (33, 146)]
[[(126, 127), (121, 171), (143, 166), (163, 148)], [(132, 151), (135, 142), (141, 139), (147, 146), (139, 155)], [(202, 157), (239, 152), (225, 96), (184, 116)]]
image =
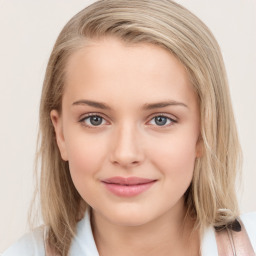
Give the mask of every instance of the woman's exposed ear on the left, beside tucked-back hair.
[(63, 120), (57, 110), (52, 110), (50, 113), (52, 124), (54, 126), (56, 141), (60, 150), (61, 157), (64, 161), (68, 161), (65, 138), (63, 135)]

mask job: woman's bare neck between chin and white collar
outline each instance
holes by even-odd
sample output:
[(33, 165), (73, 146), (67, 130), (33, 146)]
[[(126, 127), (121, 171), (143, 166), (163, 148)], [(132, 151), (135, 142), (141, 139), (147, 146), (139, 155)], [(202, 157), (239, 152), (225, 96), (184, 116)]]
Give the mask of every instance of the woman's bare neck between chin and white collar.
[(93, 211), (92, 227), (101, 256), (199, 255), (198, 232), (193, 220), (185, 218), (183, 202), (139, 226), (118, 225)]

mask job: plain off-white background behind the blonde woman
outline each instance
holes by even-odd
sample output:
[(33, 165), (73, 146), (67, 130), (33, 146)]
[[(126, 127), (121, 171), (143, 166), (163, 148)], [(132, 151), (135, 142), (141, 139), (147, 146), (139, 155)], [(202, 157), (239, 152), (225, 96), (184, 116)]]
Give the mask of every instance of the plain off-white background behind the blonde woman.
[[(52, 46), (91, 2), (0, 0), (0, 252), (28, 231), (39, 99)], [(244, 152), (241, 211), (256, 211), (256, 1), (177, 2), (206, 23), (221, 46)]]

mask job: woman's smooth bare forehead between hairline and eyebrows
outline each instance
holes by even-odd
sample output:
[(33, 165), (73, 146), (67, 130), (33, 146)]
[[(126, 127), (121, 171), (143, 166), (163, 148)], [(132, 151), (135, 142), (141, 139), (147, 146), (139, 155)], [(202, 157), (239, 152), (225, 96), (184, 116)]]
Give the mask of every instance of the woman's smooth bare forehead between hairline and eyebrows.
[(193, 94), (186, 69), (169, 51), (115, 38), (91, 41), (73, 53), (66, 66), (65, 86), (66, 94), (111, 99), (169, 95), (189, 100)]

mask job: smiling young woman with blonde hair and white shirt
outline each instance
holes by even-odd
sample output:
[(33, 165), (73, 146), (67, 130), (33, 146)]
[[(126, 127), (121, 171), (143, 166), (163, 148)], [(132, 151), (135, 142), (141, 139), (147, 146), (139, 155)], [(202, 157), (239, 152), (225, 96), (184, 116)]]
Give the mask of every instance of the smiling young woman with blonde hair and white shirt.
[(5, 256), (227, 255), (241, 241), (255, 254), (221, 53), (180, 5), (107, 0), (75, 15), (48, 63), (40, 136), (45, 228)]

